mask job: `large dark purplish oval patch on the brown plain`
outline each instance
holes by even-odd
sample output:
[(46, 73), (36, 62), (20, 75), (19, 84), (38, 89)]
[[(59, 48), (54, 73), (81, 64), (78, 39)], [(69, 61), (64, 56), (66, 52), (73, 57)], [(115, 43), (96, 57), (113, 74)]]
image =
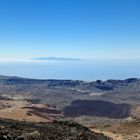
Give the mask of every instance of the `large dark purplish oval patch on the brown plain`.
[(64, 116), (79, 117), (85, 115), (119, 119), (129, 117), (130, 109), (128, 104), (115, 104), (98, 100), (75, 100), (64, 109)]

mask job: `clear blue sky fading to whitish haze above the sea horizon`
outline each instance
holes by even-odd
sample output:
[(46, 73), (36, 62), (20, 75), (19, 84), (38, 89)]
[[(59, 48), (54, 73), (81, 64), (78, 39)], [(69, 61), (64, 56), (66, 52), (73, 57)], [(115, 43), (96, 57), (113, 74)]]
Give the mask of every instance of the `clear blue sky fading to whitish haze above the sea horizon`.
[(140, 59), (139, 0), (1, 0), (0, 59)]

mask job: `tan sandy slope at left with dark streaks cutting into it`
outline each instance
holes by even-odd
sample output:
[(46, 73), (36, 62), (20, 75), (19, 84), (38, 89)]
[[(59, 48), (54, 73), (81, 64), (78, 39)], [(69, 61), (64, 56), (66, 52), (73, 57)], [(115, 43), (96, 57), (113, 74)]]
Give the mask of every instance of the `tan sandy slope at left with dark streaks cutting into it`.
[(20, 121), (48, 122), (46, 118), (29, 114), (30, 109), (24, 107), (44, 107), (43, 105), (33, 105), (25, 100), (0, 100), (0, 118), (7, 118)]

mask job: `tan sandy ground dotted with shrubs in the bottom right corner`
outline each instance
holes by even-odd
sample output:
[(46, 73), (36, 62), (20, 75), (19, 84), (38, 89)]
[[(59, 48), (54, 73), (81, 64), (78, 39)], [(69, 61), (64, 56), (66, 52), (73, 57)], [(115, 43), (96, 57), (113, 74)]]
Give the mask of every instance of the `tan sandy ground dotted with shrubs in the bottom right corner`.
[(140, 120), (128, 120), (108, 128), (93, 128), (91, 130), (103, 133), (113, 140), (140, 140)]

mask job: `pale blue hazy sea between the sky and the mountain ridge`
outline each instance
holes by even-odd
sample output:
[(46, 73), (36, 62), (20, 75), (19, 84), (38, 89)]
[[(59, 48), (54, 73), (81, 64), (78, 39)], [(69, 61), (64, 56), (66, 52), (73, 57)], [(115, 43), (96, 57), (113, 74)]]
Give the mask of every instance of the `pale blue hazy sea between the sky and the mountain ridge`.
[(86, 81), (140, 78), (140, 60), (1, 62), (0, 75)]

